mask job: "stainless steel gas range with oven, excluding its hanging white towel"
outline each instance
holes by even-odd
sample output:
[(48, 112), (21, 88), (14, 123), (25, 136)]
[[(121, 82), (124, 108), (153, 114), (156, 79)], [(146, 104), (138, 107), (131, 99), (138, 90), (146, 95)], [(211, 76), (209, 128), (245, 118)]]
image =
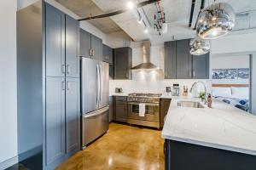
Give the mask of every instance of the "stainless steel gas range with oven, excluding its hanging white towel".
[[(128, 123), (160, 128), (161, 94), (129, 94)], [(145, 105), (144, 116), (139, 115), (139, 105)]]

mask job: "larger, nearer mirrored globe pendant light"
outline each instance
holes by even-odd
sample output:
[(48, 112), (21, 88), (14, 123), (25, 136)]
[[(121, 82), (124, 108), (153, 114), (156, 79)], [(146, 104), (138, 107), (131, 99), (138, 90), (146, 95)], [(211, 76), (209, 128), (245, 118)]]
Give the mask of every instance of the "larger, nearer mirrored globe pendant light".
[(196, 32), (202, 39), (226, 35), (235, 26), (235, 13), (229, 3), (213, 3), (199, 14)]

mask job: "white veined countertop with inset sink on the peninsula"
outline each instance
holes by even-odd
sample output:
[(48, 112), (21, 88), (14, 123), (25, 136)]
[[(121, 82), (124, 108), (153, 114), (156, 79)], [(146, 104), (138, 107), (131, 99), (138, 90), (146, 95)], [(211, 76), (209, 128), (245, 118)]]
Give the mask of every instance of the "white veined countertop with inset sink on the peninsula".
[(163, 139), (256, 156), (256, 116), (216, 100), (210, 109), (177, 106), (178, 100), (195, 100), (188, 97), (162, 98), (172, 99)]

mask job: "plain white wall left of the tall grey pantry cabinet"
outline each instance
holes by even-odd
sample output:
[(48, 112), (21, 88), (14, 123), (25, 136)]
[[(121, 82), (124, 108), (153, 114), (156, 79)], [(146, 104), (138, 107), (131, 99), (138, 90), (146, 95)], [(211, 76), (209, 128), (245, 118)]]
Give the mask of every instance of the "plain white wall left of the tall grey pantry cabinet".
[(17, 156), (16, 8), (0, 1), (0, 163)]

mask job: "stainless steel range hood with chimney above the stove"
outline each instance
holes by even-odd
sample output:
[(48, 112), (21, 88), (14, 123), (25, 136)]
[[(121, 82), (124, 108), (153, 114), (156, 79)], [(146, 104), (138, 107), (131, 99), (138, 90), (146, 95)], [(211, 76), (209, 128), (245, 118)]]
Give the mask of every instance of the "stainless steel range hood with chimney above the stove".
[(132, 71), (142, 71), (142, 70), (156, 70), (158, 67), (150, 62), (150, 47), (151, 43), (149, 41), (143, 42), (143, 63), (132, 67)]

